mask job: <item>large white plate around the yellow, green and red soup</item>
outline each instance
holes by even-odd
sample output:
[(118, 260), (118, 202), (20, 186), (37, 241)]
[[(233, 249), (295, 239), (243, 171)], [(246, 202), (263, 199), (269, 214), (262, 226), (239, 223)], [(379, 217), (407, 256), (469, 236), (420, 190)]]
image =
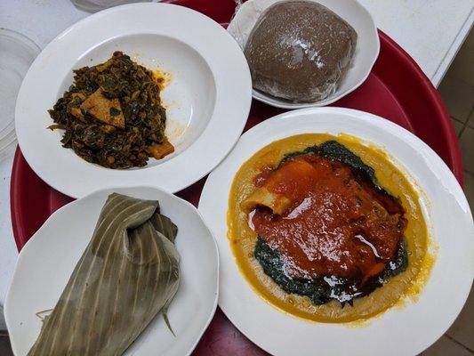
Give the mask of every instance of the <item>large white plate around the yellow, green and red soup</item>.
[[(418, 182), (430, 223), (436, 263), (419, 300), (406, 301), (366, 325), (309, 322), (279, 312), (253, 292), (239, 272), (227, 239), (229, 188), (239, 167), (270, 142), (294, 134), (351, 134), (387, 150)], [(317, 108), (290, 111), (246, 132), (207, 178), (199, 211), (217, 239), (221, 256), (219, 305), (237, 328), (274, 355), (410, 355), (442, 336), (462, 309), (474, 276), (474, 224), (454, 175), (414, 134), (362, 111)]]

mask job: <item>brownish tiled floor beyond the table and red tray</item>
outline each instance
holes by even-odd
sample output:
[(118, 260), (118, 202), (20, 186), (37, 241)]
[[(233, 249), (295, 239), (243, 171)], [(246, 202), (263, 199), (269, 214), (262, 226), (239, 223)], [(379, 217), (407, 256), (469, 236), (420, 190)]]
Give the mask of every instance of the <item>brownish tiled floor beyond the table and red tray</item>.
[[(474, 30), (457, 54), (446, 77), (439, 85), (460, 138), (465, 168), (464, 190), (474, 211)], [(0, 355), (10, 356), (10, 341), (0, 331)], [(474, 292), (461, 315), (446, 335), (422, 353), (422, 356), (474, 356)]]

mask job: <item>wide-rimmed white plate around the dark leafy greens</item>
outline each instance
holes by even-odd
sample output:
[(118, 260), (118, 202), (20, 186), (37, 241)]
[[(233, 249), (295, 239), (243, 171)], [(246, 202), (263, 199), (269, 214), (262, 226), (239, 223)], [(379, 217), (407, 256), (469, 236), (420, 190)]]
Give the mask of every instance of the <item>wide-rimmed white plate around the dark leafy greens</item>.
[[(72, 70), (106, 61), (114, 51), (171, 73), (162, 98), (175, 152), (143, 168), (113, 170), (61, 147), (47, 113), (72, 84)], [(252, 101), (245, 56), (217, 22), (173, 4), (129, 4), (98, 12), (57, 36), (37, 57), (18, 96), (20, 149), (40, 178), (80, 198), (109, 186), (153, 185), (177, 191), (209, 173), (234, 146)]]

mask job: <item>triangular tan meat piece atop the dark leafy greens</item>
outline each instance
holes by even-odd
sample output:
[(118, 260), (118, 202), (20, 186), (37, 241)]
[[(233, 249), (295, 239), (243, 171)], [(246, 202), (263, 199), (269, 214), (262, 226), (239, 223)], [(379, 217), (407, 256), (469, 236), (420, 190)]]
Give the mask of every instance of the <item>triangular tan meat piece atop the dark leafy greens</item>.
[(81, 109), (105, 124), (125, 128), (125, 117), (120, 101), (106, 98), (100, 88), (82, 103)]

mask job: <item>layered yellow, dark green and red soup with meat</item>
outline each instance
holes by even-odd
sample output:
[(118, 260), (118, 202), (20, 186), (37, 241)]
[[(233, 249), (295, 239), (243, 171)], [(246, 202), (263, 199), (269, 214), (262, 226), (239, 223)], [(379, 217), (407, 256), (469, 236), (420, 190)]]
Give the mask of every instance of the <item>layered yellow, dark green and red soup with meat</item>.
[(300, 134), (255, 153), (232, 183), (228, 226), (259, 295), (309, 320), (379, 314), (416, 295), (433, 263), (413, 183), (348, 135)]

